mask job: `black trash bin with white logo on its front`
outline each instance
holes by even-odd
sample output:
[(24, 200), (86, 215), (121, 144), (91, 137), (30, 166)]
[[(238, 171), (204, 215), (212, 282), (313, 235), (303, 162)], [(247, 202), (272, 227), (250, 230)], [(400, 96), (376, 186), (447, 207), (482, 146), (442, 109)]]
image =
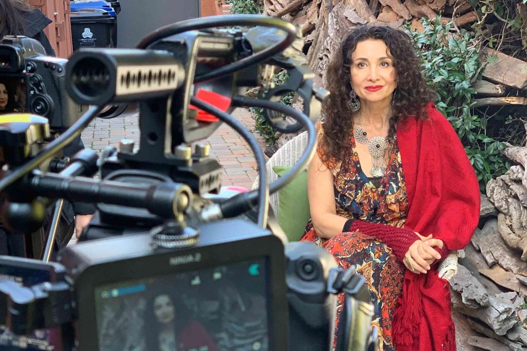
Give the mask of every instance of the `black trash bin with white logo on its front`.
[(71, 36), (73, 49), (81, 47), (115, 47), (116, 21), (108, 11), (86, 8), (72, 12)]

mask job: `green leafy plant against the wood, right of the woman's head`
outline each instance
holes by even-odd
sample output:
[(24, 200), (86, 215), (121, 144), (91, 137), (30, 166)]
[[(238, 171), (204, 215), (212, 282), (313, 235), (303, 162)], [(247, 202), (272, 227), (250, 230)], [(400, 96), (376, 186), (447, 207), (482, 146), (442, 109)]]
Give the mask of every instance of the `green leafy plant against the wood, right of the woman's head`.
[[(473, 35), (461, 30), (452, 33), (451, 23), (442, 25), (440, 18), (423, 19), (423, 33), (406, 31), (412, 36), (423, 61), (423, 74), (437, 92), (436, 107), (450, 121), (460, 137), (474, 167), (480, 187), (509, 168), (499, 153), (504, 144), (487, 133), (489, 118), (475, 114), (471, 83), (480, 78), (482, 63)], [(490, 57), (492, 61), (495, 57)]]

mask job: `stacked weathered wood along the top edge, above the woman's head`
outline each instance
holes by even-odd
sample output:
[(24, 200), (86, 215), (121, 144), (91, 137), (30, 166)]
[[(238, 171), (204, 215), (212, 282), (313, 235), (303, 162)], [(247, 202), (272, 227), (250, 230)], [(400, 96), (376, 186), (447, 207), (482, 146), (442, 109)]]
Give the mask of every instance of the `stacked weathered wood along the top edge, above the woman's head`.
[(365, 23), (400, 27), (412, 21), (421, 30), (422, 17), (433, 19), (440, 12), (442, 21), (454, 19), (457, 26), (477, 20), (468, 0), (264, 0), (264, 14), (300, 27), (309, 65), (319, 74), (350, 27)]

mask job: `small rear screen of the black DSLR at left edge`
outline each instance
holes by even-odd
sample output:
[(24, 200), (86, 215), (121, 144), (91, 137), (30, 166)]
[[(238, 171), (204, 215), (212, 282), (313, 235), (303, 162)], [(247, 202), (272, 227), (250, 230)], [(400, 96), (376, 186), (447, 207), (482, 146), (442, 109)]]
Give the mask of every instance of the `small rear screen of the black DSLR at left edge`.
[(26, 82), (22, 77), (0, 77), (0, 115), (26, 111)]

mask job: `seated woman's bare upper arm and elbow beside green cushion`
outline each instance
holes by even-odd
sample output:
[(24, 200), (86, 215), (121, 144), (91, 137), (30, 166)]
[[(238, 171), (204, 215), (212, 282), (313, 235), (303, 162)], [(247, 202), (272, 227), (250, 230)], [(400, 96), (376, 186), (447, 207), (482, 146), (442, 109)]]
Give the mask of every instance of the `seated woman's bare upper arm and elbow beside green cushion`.
[(317, 235), (331, 238), (342, 232), (346, 218), (336, 213), (333, 174), (322, 163), (317, 153), (307, 171), (309, 210)]

